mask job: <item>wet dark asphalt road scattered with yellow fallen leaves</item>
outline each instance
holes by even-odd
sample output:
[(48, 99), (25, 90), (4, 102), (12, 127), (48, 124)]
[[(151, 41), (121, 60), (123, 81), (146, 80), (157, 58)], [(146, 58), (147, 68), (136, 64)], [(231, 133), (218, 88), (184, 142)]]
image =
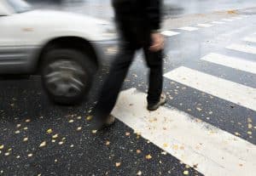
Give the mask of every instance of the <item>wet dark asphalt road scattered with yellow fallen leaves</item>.
[[(103, 68), (98, 73), (90, 92), (90, 99), (84, 101), (82, 105), (73, 107), (53, 105), (49, 102), (39, 77), (29, 79), (2, 77), (0, 174), (216, 175), (217, 170), (213, 168), (215, 162), (222, 169), (230, 165), (229, 162), (219, 162), (218, 158), (211, 164), (209, 161), (214, 157), (211, 155), (212, 152), (214, 154), (217, 150), (220, 156), (224, 154), (221, 158), (224, 161), (228, 154), (223, 151), (227, 146), (230, 147), (228, 153), (236, 154), (233, 161), (240, 161), (241, 153), (248, 152), (247, 148), (244, 148), (243, 152), (239, 152), (239, 147), (237, 150), (236, 147), (232, 148), (236, 146), (234, 141), (218, 145), (217, 142), (225, 139), (225, 136), (236, 139), (239, 141), (237, 144), (241, 146), (250, 146), (249, 152), (254, 156), (255, 19), (253, 13), (247, 16), (244, 13), (226, 14), (224, 19), (214, 20), (215, 23), (212, 23), (213, 20), (204, 20), (204, 24), (199, 26), (197, 25), (200, 21), (193, 25), (189, 23), (189, 27), (193, 28), (168, 29), (166, 26), (164, 73), (169, 75), (165, 75), (164, 91), (168, 96), (165, 108), (156, 112), (158, 114), (155, 116), (166, 116), (170, 111), (176, 113), (181, 121), (184, 116), (183, 122), (191, 124), (189, 132), (184, 123), (177, 122), (175, 125), (183, 129), (181, 133), (177, 133), (178, 128), (168, 125), (157, 130), (156, 134), (152, 133), (151, 128), (142, 126), (144, 131), (139, 133), (136, 129), (137, 124), (143, 122), (142, 124), (150, 125), (151, 122), (148, 121), (151, 120), (147, 118), (148, 115), (142, 118), (137, 115), (138, 111), (130, 111), (133, 109), (125, 105), (122, 107), (122, 99), (113, 112), (114, 115), (118, 115), (118, 121), (114, 126), (108, 131), (95, 132), (90, 112), (108, 68)], [(208, 57), (209, 60), (202, 60), (203, 56), (209, 56), (208, 54), (211, 53), (220, 54), (220, 60), (211, 60), (211, 57)], [(233, 60), (235, 58), (235, 61), (224, 62), (223, 60), (226, 60), (224, 56), (232, 57)], [(214, 58), (218, 57), (215, 55)], [(237, 58), (243, 61), (239, 62)], [(213, 63), (214, 61), (218, 63)], [(146, 93), (147, 74), (143, 55), (138, 52), (125, 79), (122, 94), (131, 88)], [(181, 78), (176, 77), (176, 74)], [(193, 79), (194, 76), (198, 79)], [(191, 82), (187, 82), (188, 80)], [(252, 92), (247, 94), (247, 91)], [(127, 100), (131, 100), (131, 106), (140, 107), (136, 99)], [(140, 111), (143, 115), (147, 113), (143, 109)], [(119, 116), (120, 113), (123, 113), (123, 116)], [(134, 124), (127, 120), (129, 116), (135, 116), (138, 123)], [(174, 121), (176, 118), (176, 116), (167, 117)], [(207, 128), (199, 128), (198, 136), (194, 135), (195, 128), (201, 123)], [(161, 127), (162, 124), (157, 123), (155, 127), (158, 128), (158, 125)], [(208, 136), (210, 142), (200, 138), (203, 133), (209, 132), (209, 129), (211, 133), (218, 134), (218, 138), (215, 139)], [(157, 135), (157, 138), (154, 135)], [(159, 145), (163, 136), (167, 137), (163, 139), (166, 143)], [(201, 145), (210, 144), (212, 149), (190, 150), (193, 144), (189, 143), (189, 137), (194, 141), (201, 141)], [(168, 139), (173, 140), (170, 142)], [(222, 146), (224, 149), (221, 148)], [(202, 162), (197, 157), (189, 156), (197, 156), (197, 154), (203, 156), (205, 160)], [(242, 158), (244, 159), (242, 163), (231, 165), (230, 175), (236, 175), (236, 169), (250, 165), (251, 163), (247, 162), (249, 158), (250, 156), (246, 156)], [(247, 172), (243, 175), (253, 175), (249, 172), (251, 170), (253, 167), (247, 167)]]

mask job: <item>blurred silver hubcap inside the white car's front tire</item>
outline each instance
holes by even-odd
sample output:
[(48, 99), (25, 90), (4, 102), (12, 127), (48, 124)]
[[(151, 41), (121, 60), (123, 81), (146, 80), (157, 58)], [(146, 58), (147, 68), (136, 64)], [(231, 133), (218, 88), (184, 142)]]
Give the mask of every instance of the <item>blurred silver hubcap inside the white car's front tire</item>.
[(44, 80), (51, 94), (73, 97), (81, 94), (85, 71), (73, 60), (56, 60), (45, 69)]

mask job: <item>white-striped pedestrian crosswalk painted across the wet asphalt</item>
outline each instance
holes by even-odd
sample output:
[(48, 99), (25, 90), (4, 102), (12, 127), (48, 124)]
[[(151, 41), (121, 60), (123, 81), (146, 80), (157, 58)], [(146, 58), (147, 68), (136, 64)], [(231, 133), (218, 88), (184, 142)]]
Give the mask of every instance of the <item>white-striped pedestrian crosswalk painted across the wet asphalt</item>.
[[(189, 26), (180, 30), (195, 31)], [(253, 45), (242, 41), (255, 43), (255, 37), (244, 37), (241, 43), (232, 43), (225, 49), (236, 51), (236, 54), (237, 52), (256, 54)], [(198, 59), (210, 65), (245, 71), (256, 77), (256, 60), (247, 60), (242, 56), (230, 54), (232, 52), (227, 53), (209, 53)], [(180, 83), (256, 112), (256, 88), (186, 66), (167, 71), (164, 77), (169, 82)], [(200, 173), (212, 176), (253, 176), (256, 172), (256, 145), (207, 122), (197, 121), (195, 116), (176, 108), (160, 107), (158, 111), (149, 112), (146, 110), (146, 105), (146, 94), (131, 88), (119, 95), (112, 113), (121, 122), (141, 133), (145, 139), (183, 163), (194, 167)]]

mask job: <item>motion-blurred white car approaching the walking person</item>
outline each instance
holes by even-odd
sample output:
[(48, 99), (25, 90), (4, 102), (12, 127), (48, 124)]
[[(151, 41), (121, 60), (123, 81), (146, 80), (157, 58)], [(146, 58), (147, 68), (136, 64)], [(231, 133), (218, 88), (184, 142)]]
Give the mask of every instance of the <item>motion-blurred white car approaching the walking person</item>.
[(0, 74), (40, 74), (49, 97), (78, 103), (96, 69), (116, 46), (107, 21), (54, 10), (33, 10), (23, 0), (0, 0)]

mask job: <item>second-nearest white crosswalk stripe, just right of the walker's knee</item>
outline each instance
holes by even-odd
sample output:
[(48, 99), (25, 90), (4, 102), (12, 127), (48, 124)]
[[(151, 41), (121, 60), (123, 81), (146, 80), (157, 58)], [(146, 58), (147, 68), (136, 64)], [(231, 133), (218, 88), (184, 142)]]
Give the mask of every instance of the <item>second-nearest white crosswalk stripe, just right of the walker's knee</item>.
[(230, 82), (183, 66), (166, 73), (165, 77), (256, 111), (256, 88)]

